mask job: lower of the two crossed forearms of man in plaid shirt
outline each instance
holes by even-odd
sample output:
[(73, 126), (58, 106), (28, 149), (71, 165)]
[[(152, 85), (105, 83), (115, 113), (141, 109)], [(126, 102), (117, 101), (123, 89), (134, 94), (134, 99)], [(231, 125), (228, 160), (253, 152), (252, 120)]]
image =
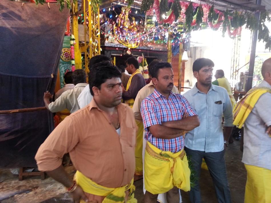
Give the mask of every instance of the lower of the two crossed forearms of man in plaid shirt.
[(154, 137), (161, 139), (172, 139), (175, 137), (180, 137), (184, 134), (183, 130), (170, 128), (163, 125), (150, 126), (149, 130)]

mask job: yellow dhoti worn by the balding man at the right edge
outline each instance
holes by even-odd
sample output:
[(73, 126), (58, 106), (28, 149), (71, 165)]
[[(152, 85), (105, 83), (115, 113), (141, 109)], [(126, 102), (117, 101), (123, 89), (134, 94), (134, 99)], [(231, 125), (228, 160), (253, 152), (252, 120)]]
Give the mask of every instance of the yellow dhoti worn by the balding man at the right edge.
[(271, 202), (271, 170), (246, 165), (247, 180), (245, 203)]

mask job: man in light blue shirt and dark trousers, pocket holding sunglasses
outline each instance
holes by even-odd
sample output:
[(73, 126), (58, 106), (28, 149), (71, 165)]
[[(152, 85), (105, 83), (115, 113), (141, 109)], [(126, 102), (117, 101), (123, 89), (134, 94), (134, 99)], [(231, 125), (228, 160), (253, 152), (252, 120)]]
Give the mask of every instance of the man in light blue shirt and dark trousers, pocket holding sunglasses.
[[(214, 182), (219, 203), (230, 203), (224, 148), (232, 131), (232, 105), (225, 88), (212, 85), (214, 62), (208, 58), (198, 58), (193, 63), (196, 85), (183, 96), (198, 114), (200, 126), (189, 131), (185, 137), (185, 151), (190, 157), (196, 177), (200, 177), (202, 158), (206, 161)], [(223, 135), (222, 116), (224, 115)], [(189, 192), (190, 201), (201, 202), (199, 181)]]

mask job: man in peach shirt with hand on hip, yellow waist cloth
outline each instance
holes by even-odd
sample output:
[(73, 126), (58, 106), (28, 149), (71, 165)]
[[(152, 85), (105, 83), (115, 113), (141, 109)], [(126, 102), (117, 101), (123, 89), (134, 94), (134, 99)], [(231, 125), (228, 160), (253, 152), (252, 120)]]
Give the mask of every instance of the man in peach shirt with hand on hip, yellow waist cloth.
[[(119, 70), (110, 62), (95, 66), (89, 76), (93, 100), (61, 122), (41, 145), (35, 157), (38, 169), (65, 185), (77, 203), (111, 198), (136, 202), (133, 111), (121, 103)], [(76, 182), (61, 165), (68, 152), (77, 169)]]

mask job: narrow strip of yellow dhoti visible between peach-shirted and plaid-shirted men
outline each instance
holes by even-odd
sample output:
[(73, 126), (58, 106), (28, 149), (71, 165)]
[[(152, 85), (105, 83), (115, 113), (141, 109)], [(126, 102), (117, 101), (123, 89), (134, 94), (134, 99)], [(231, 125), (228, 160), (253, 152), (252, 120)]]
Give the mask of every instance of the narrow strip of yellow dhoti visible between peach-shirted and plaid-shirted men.
[(142, 148), (143, 148), (143, 123), (136, 121), (138, 130), (136, 132), (136, 147), (135, 147), (135, 160), (136, 168), (135, 175), (143, 175), (143, 162), (142, 162)]

